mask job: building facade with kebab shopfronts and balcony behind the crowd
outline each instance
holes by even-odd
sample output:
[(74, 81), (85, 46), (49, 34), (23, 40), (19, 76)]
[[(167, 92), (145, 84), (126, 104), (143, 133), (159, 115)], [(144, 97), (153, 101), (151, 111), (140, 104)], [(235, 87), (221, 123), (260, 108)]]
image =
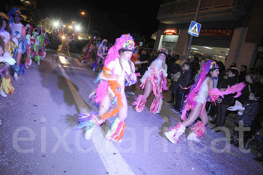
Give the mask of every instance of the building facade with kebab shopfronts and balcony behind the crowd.
[[(160, 5), (154, 50), (163, 47), (171, 54), (186, 53), (197, 5), (198, 0), (166, 0)], [(189, 56), (216, 59), (226, 67), (236, 63), (238, 69), (241, 65), (263, 65), (263, 20), (259, 16), (263, 16), (259, 0), (202, 0), (196, 21), (202, 26), (199, 36), (193, 38)]]

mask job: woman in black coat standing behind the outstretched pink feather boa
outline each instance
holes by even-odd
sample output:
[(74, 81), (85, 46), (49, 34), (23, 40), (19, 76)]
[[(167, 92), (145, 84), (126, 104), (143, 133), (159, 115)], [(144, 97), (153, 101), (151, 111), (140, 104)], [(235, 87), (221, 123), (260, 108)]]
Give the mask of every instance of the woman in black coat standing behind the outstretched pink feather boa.
[[(217, 87), (220, 91), (225, 91), (228, 86), (233, 86), (238, 83), (237, 76), (238, 70), (235, 67), (232, 67), (231, 70), (228, 72), (227, 79), (217, 84)], [(227, 108), (229, 108), (229, 106), (232, 104), (232, 101), (233, 94), (229, 94), (224, 96), (224, 99), (221, 103), (217, 103), (217, 118), (215, 127), (222, 127), (224, 125), (226, 121)], [(220, 132), (220, 130), (215, 132)]]

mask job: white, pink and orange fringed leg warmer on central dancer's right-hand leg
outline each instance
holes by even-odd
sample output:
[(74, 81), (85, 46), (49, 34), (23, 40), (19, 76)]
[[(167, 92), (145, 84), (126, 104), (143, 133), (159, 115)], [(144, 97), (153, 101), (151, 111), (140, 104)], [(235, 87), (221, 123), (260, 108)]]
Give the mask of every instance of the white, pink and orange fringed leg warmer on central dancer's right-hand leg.
[(110, 130), (106, 135), (106, 139), (109, 139), (110, 141), (121, 142), (125, 127), (126, 125), (124, 121), (120, 121), (118, 117), (115, 117), (114, 121), (111, 123)]

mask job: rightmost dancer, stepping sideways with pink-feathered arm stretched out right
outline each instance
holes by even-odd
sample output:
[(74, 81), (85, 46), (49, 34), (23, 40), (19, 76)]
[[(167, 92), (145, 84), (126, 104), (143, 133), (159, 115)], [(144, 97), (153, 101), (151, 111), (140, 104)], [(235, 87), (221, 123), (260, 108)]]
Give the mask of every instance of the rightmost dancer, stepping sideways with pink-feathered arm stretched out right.
[[(198, 137), (203, 136), (205, 133), (205, 125), (208, 122), (207, 112), (205, 110), (205, 103), (208, 96), (215, 102), (219, 99), (219, 96), (224, 98), (224, 95), (230, 93), (236, 93), (235, 98), (241, 95), (241, 90), (244, 88), (244, 84), (236, 84), (226, 89), (226, 91), (219, 91), (214, 88), (213, 78), (219, 74), (219, 66), (214, 60), (209, 60), (203, 64), (202, 70), (198, 75), (198, 79), (193, 86), (191, 86), (190, 93), (188, 94), (184, 108), (182, 110), (181, 119), (183, 122), (179, 122), (176, 127), (169, 129), (165, 132), (165, 136), (172, 143), (177, 143), (179, 137), (184, 133), (187, 126), (191, 125), (199, 116), (201, 121), (198, 121), (192, 128), (193, 132), (187, 137), (188, 140), (200, 142)], [(185, 88), (188, 89), (188, 88)], [(191, 110), (188, 118), (186, 119), (186, 112)]]

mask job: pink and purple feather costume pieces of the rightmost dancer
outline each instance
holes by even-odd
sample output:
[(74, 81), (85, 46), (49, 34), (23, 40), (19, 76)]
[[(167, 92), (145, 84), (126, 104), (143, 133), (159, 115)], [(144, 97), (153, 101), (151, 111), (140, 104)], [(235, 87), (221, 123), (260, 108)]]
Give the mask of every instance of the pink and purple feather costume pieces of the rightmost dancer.
[[(190, 86), (190, 93), (187, 95), (186, 100), (184, 101), (184, 107), (183, 110), (181, 111), (181, 119), (183, 121), (186, 121), (186, 112), (189, 110), (194, 110), (197, 102), (196, 102), (196, 97), (198, 95), (198, 92), (200, 91), (200, 87), (203, 84), (204, 80), (207, 77), (207, 73), (219, 68), (219, 66), (214, 62), (214, 60), (209, 60), (205, 64), (203, 64), (202, 70), (200, 74), (198, 75), (198, 79), (195, 82), (194, 85)], [(188, 87), (188, 88), (190, 88)], [(231, 87), (228, 87), (225, 91), (219, 91), (217, 88), (213, 88), (210, 91), (208, 91), (208, 95), (210, 96), (210, 100), (212, 102), (215, 102), (216, 100), (219, 99), (219, 96), (224, 98), (224, 95), (231, 94), (231, 93), (237, 93), (234, 98), (237, 98), (241, 95), (242, 89), (245, 87), (245, 84), (239, 83), (235, 84)], [(184, 89), (188, 89), (184, 88)], [(206, 103), (206, 102), (205, 102)], [(203, 116), (203, 111), (205, 109), (205, 103), (203, 104), (202, 110), (200, 112), (199, 117)], [(177, 124), (174, 128), (169, 129), (166, 133), (165, 136), (171, 141), (172, 143), (177, 143), (178, 139), (182, 134), (184, 133), (186, 127), (181, 125), (181, 122)], [(196, 137), (203, 137), (203, 134), (205, 133), (205, 126), (202, 124), (201, 121), (198, 121), (195, 126), (192, 128), (193, 133), (196, 134)]]

